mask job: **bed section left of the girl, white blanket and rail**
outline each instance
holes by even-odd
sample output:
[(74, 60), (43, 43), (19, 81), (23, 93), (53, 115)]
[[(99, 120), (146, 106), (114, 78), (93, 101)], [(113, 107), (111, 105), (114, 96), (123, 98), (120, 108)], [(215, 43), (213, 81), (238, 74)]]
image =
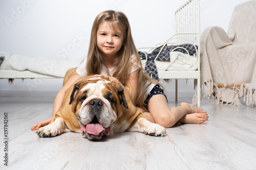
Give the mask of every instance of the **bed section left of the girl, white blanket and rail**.
[(0, 79), (64, 78), (69, 68), (77, 67), (82, 59), (50, 59), (26, 57), (0, 52)]

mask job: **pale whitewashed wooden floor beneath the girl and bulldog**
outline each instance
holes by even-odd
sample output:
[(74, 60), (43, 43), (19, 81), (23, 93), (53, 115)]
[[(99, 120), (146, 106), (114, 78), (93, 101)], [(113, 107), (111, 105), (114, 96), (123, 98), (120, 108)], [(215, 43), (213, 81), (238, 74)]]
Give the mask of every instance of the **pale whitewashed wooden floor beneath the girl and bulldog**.
[[(212, 106), (204, 99), (201, 108), (209, 120), (202, 125), (177, 124), (167, 129), (166, 137), (124, 132), (99, 141), (79, 133), (39, 138), (30, 128), (51, 116), (53, 101), (0, 99), (0, 169), (256, 169), (256, 108)], [(169, 104), (176, 105), (173, 99)]]

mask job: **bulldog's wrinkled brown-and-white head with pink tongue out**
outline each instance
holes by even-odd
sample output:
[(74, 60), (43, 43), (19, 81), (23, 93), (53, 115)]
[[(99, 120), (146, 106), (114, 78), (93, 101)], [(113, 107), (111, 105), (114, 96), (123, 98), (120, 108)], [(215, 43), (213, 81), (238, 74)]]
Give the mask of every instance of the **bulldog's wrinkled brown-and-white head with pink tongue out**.
[(99, 77), (76, 83), (70, 96), (81, 132), (89, 139), (110, 135), (113, 123), (122, 114), (122, 103), (128, 108), (123, 88)]

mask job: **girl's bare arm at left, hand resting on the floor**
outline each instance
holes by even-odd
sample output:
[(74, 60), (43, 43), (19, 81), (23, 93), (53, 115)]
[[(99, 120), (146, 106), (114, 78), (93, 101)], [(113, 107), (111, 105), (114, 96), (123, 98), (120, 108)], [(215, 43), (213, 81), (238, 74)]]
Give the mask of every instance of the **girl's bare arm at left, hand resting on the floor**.
[(68, 91), (68, 89), (71, 87), (71, 85), (77, 81), (78, 79), (80, 79), (81, 77), (77, 74), (77, 72), (75, 71), (74, 74), (70, 77), (70, 79), (67, 81), (67, 83), (59, 90), (59, 92), (57, 93), (54, 103), (53, 103), (53, 111), (52, 111), (52, 117), (45, 119), (44, 121), (41, 122), (37, 122), (32, 128), (31, 130), (38, 130), (40, 127), (44, 127), (46, 125), (50, 125), (54, 122), (54, 117), (55, 117), (55, 113), (60, 109), (60, 107), (62, 106), (62, 102), (64, 99), (64, 96), (66, 94), (66, 92)]

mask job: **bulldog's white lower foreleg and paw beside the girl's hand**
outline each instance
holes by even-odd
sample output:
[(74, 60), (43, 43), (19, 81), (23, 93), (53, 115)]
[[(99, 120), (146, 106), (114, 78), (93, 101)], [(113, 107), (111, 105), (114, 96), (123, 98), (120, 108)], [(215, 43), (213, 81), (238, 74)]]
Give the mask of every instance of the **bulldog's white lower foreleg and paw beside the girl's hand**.
[(64, 129), (64, 121), (62, 118), (56, 118), (51, 125), (41, 127), (36, 132), (40, 137), (54, 137), (60, 135)]

